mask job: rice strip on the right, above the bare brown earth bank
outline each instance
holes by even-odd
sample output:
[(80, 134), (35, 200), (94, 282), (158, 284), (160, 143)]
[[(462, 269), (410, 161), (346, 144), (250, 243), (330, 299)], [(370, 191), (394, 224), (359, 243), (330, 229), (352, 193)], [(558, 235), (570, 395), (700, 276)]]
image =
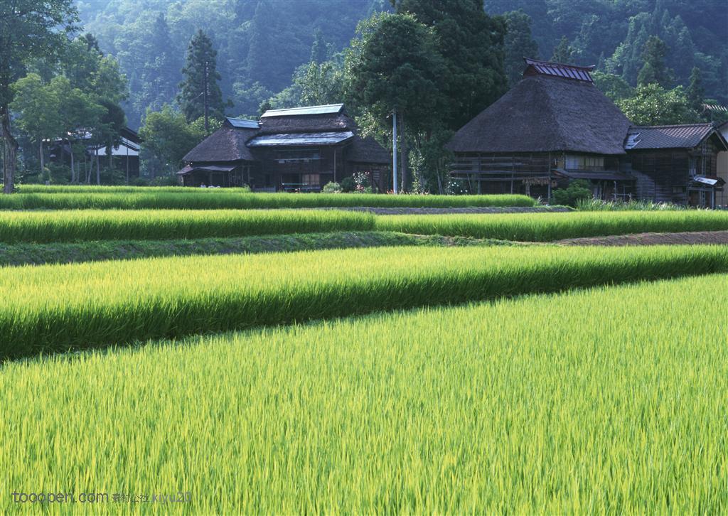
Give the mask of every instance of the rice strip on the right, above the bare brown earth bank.
[(376, 220), (381, 231), (548, 242), (615, 234), (728, 229), (728, 212), (513, 213), (507, 215), (389, 215)]

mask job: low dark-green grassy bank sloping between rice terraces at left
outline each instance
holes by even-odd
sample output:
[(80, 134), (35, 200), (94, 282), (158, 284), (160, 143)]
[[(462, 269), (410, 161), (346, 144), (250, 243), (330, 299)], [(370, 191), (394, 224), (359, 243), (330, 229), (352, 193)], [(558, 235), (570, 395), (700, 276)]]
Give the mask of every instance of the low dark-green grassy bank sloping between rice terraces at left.
[(129, 260), (155, 256), (223, 255), (248, 253), (291, 253), (303, 250), (350, 247), (488, 246), (515, 245), (505, 240), (481, 240), (438, 235), (411, 235), (387, 231), (335, 231), (264, 235), (261, 237), (205, 238), (185, 240), (107, 240), (52, 244), (2, 244), (0, 266), (81, 263), (85, 261)]

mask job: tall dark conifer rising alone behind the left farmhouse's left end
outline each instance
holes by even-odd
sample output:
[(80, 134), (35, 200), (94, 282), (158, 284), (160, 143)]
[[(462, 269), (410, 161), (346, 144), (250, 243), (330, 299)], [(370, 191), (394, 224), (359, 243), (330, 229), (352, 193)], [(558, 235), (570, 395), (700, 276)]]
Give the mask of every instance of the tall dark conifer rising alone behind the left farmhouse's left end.
[(209, 117), (222, 119), (225, 116), (223, 95), (218, 85), (217, 54), (213, 41), (202, 30), (192, 36), (182, 68), (184, 80), (179, 84), (177, 97), (187, 122), (205, 116), (205, 100)]

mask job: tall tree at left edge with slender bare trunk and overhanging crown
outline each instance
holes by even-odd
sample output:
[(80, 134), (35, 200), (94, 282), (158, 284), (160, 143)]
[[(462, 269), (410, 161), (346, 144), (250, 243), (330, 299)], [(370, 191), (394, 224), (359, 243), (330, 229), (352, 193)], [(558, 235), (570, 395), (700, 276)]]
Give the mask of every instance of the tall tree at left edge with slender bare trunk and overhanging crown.
[(54, 57), (78, 20), (73, 0), (0, 2), (0, 138), (3, 141), (4, 193), (15, 187), (17, 141), (10, 129), (12, 88), (35, 58)]

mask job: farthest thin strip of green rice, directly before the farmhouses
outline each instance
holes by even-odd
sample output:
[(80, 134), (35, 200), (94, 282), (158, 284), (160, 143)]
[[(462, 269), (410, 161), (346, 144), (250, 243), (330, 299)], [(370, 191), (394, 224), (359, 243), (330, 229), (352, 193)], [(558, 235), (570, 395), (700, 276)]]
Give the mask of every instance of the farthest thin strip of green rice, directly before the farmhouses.
[[(47, 187), (50, 188), (50, 187)], [(83, 187), (85, 188), (85, 187)], [(102, 187), (110, 188), (110, 187)], [(126, 187), (130, 188), (130, 187)], [(227, 189), (146, 188), (0, 196), (0, 210), (252, 210), (316, 207), (529, 207), (525, 195), (250, 194)], [(23, 190), (21, 190), (22, 192)]]

